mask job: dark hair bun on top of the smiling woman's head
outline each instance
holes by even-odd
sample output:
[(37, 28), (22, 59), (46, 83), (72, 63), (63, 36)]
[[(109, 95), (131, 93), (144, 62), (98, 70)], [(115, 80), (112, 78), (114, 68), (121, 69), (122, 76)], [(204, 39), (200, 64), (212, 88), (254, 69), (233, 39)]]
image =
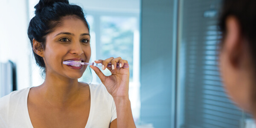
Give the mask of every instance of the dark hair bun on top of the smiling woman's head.
[(52, 6), (56, 2), (69, 4), (68, 0), (40, 0), (38, 4), (35, 6), (35, 14), (41, 12), (44, 7)]

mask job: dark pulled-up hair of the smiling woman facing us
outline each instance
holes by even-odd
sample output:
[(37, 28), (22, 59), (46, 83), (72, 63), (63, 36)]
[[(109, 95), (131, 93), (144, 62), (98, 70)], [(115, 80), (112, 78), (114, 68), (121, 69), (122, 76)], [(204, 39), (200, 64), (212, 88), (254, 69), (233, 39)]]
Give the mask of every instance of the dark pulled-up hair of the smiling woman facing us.
[[(55, 27), (60, 26), (63, 17), (65, 16), (75, 16), (82, 21), (84, 21), (85, 26), (88, 30), (89, 25), (84, 17), (84, 12), (80, 6), (70, 5), (68, 0), (40, 0), (35, 6), (35, 17), (30, 20), (28, 28), (28, 36), (33, 48), (33, 39), (40, 42), (40, 47), (35, 49), (44, 50), (46, 36), (51, 33)], [(42, 76), (45, 75), (46, 69), (44, 60), (41, 56), (34, 52), (36, 64), (41, 67)]]

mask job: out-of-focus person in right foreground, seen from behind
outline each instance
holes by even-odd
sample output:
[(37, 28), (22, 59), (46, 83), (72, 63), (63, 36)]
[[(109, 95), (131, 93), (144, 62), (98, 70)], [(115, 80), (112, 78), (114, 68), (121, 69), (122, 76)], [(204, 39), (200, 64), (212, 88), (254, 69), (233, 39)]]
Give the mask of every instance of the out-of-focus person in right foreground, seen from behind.
[(256, 0), (224, 0), (220, 69), (228, 94), (256, 118)]

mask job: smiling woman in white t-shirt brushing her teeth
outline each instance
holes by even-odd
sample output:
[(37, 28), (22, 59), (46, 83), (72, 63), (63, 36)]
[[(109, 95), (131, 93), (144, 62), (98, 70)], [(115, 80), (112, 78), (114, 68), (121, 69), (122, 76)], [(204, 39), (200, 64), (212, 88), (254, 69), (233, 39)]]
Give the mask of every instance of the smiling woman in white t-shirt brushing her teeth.
[(81, 7), (68, 0), (40, 0), (35, 9), (28, 36), (45, 81), (0, 99), (0, 127), (134, 128), (129, 68), (122, 67), (128, 62), (120, 57), (95, 61), (103, 64), (102, 70), (111, 70), (111, 76), (90, 66), (105, 86), (78, 82), (87, 66), (63, 61), (90, 60), (89, 26)]

